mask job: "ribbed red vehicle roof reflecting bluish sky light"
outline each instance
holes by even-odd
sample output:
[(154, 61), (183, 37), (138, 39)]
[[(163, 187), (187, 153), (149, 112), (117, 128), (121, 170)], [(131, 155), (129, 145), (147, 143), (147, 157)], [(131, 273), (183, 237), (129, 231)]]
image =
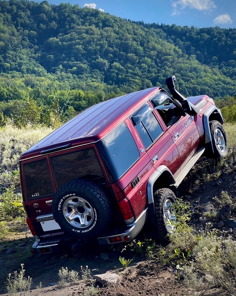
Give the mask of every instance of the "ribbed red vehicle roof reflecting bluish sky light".
[(153, 87), (137, 91), (84, 110), (24, 152), (20, 160), (66, 144), (73, 147), (99, 141), (161, 89)]

